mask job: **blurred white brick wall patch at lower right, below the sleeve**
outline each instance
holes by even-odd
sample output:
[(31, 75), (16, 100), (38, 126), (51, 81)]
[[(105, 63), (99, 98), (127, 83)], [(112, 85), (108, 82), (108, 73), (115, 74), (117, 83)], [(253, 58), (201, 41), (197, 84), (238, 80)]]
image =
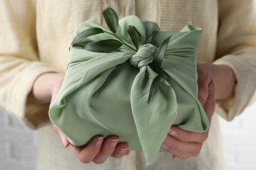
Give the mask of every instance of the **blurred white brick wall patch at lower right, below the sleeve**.
[(256, 103), (232, 122), (221, 122), (228, 170), (255, 170)]

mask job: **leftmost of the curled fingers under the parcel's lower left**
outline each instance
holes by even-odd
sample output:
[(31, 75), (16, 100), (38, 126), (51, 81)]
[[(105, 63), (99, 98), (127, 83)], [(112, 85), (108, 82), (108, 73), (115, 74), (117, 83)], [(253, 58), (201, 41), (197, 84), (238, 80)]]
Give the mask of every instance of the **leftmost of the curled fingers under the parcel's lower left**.
[(104, 141), (104, 137), (96, 136), (87, 144), (85, 147), (72, 146), (72, 150), (77, 156), (77, 158), (83, 163), (90, 163), (96, 157), (98, 152), (100, 152), (100, 148), (102, 147), (102, 143)]

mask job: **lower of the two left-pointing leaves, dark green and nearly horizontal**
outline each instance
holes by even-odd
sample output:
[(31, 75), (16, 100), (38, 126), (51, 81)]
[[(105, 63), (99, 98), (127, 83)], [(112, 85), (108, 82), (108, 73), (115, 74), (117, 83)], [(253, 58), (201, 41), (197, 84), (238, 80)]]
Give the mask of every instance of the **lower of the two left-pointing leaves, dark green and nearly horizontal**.
[(117, 50), (123, 43), (114, 39), (89, 42), (85, 45), (85, 50), (93, 52), (112, 52)]

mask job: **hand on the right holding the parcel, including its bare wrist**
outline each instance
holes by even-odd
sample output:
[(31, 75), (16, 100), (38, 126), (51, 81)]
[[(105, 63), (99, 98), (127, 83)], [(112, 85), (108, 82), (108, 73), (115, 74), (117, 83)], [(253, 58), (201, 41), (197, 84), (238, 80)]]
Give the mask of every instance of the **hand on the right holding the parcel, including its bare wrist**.
[[(230, 67), (198, 63), (198, 99), (205, 109), (209, 123), (215, 110), (215, 99), (233, 97), (235, 84), (236, 78)], [(209, 129), (203, 133), (194, 133), (173, 126), (161, 146), (173, 154), (174, 159), (186, 160), (200, 153), (208, 133)]]

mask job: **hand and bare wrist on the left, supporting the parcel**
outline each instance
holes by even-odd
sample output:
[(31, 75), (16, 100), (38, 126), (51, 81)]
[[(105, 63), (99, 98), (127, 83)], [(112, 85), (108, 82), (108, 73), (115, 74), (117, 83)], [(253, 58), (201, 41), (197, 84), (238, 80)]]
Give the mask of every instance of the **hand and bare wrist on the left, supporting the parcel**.
[[(28, 95), (27, 103), (30, 104), (46, 104), (52, 103), (58, 94), (64, 75), (58, 73), (45, 73), (35, 80), (32, 92)], [(70, 146), (68, 138), (54, 126), (54, 131), (60, 137), (64, 148)], [(119, 137), (104, 137), (97, 135), (85, 147), (71, 146), (75, 156), (83, 162), (103, 163), (110, 156), (121, 158), (129, 154), (127, 143), (118, 143)]]

